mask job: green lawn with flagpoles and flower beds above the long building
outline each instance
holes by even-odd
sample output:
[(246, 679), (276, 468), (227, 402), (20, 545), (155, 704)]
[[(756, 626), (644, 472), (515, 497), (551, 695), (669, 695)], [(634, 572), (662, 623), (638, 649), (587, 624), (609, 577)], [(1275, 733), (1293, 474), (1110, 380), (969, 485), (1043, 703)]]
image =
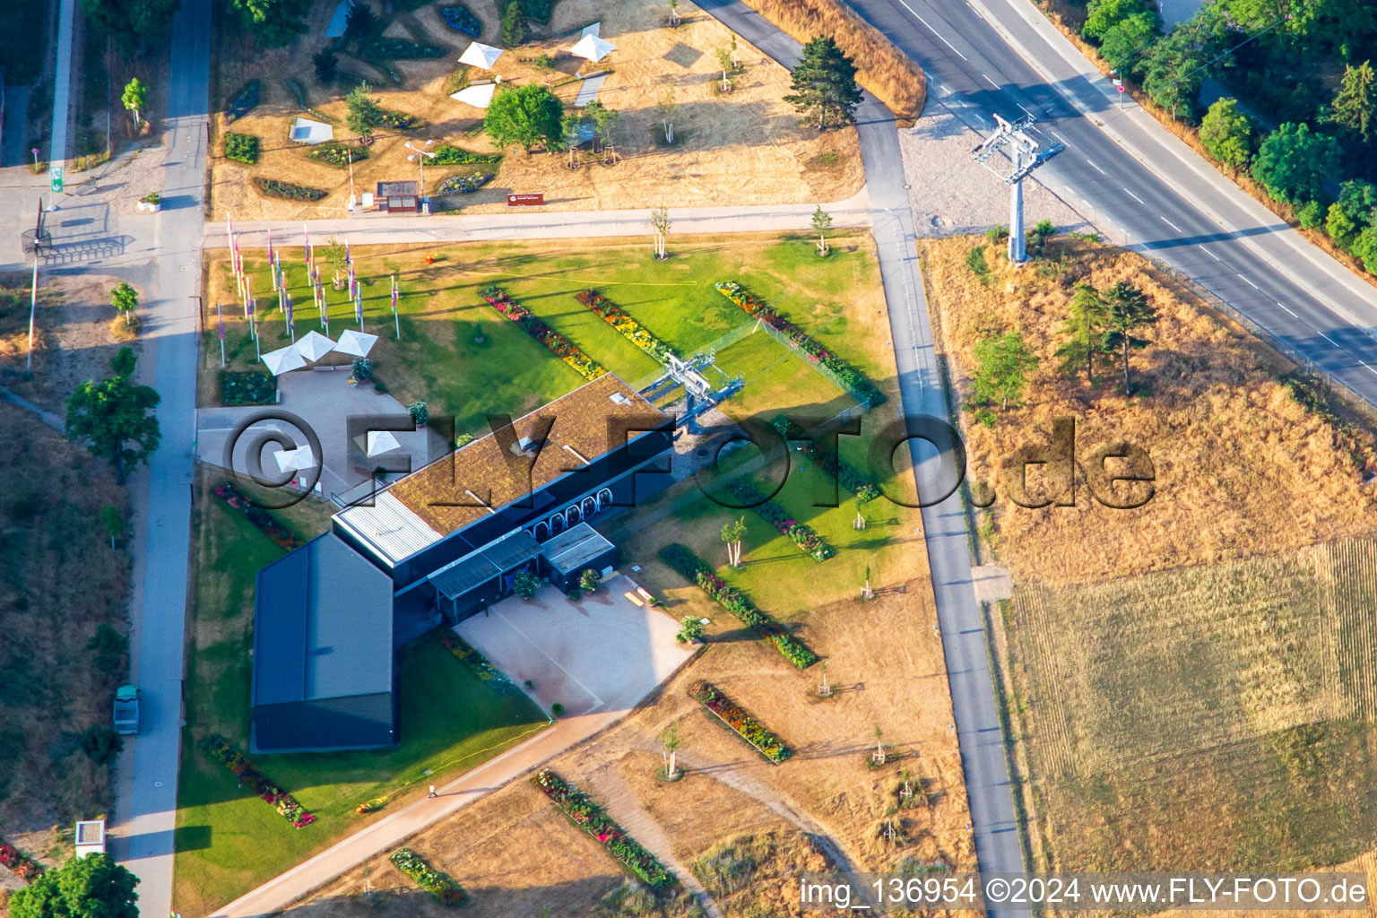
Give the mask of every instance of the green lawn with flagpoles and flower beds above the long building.
[[(321, 252), (318, 246), (318, 257)], [(828, 347), (855, 359), (856, 366), (885, 373), (865, 359), (863, 348), (850, 343), (856, 330), (848, 328), (843, 315), (858, 290), (877, 288), (874, 256), (869, 239), (859, 234), (839, 234), (828, 259), (817, 259), (812, 242), (795, 237), (742, 237), (730, 244), (686, 237), (672, 245), (666, 261), (655, 261), (644, 245), (614, 239), (357, 248), (354, 255), (364, 285), (365, 330), (383, 336), (372, 354), (377, 377), (403, 403), (420, 399), (430, 403), (432, 414), (454, 414), (456, 432), (482, 435), (486, 414), (522, 414), (582, 383), (578, 373), (483, 303), (478, 289), (487, 284), (505, 288), (551, 328), (633, 385), (658, 376), (658, 363), (580, 304), (574, 293), (596, 288), (687, 356), (753, 321), (713, 288), (716, 281), (737, 279), (770, 297)], [(438, 259), (425, 264), (427, 255)], [(259, 250), (246, 252), (245, 264), (259, 300), (260, 347), (264, 352), (284, 347), (289, 337), (271, 293), (266, 259)], [(319, 322), (299, 246), (285, 252), (284, 266), (300, 336), (318, 329)], [(402, 288), (401, 341), (394, 340), (391, 274)], [(227, 261), (212, 266), (208, 301), (218, 299), (226, 304), (222, 311), (230, 367), (249, 369), (256, 362), (255, 350), (240, 307), (233, 306), (230, 278)], [(332, 337), (357, 328), (344, 295), (329, 290), (326, 296), (332, 301)], [(479, 333), (483, 341), (475, 343)], [(218, 325), (212, 314), (205, 336), (208, 378), (219, 369), (218, 356)], [(748, 381), (746, 392), (726, 406), (738, 417), (782, 399), (792, 399), (790, 405), (833, 406), (833, 413), (852, 403), (764, 333), (723, 348), (719, 365)], [(201, 398), (209, 403), (213, 394), (202, 391)]]

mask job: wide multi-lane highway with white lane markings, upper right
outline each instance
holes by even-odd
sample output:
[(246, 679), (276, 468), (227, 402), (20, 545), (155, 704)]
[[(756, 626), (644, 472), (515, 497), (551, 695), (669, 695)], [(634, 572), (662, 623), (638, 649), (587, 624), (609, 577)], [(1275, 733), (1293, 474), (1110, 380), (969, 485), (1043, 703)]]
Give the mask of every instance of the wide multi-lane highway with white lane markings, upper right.
[[(1238, 190), (1117, 92), (1026, 0), (848, 0), (989, 134), (1038, 117), (1066, 143), (1038, 179), (1113, 242), (1161, 257), (1377, 402), (1377, 290)], [(996, 179), (991, 176), (990, 179)]]

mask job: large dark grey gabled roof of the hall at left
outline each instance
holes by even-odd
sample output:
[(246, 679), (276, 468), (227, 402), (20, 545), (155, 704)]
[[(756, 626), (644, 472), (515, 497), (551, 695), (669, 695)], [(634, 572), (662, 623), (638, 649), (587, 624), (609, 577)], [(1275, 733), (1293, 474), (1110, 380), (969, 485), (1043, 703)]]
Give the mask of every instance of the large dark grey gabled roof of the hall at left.
[(392, 691), (392, 581), (326, 533), (257, 575), (253, 705)]

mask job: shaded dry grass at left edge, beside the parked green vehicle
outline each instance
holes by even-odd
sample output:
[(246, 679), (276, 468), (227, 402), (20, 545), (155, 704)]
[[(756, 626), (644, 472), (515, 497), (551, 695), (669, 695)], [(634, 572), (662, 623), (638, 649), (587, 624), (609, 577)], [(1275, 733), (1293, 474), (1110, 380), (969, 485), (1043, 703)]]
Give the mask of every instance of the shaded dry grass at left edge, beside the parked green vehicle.
[(85, 644), (101, 623), (128, 630), (129, 559), (96, 523), (125, 494), (32, 414), (0, 403), (0, 834), (52, 863), (70, 853), (55, 827), (112, 802), (109, 769), (76, 736), (109, 725), (123, 681), (123, 665), (98, 672)]

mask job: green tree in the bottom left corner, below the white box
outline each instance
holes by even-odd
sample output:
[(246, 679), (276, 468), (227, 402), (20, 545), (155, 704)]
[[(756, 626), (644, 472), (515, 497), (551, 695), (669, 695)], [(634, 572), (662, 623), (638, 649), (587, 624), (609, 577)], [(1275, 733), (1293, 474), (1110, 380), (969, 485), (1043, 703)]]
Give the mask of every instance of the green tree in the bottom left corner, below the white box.
[(10, 918), (139, 918), (139, 878), (105, 853), (73, 857), (10, 897)]

